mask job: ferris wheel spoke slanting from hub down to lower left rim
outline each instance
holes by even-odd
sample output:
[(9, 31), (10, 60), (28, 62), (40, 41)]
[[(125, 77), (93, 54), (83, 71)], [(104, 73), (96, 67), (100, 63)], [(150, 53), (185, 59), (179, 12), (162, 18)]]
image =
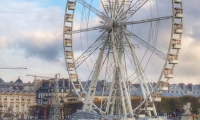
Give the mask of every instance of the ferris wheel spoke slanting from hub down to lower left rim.
[(104, 31), (97, 40), (80, 56), (71, 66), (78, 68), (95, 50), (97, 50), (104, 41), (106, 37), (106, 32)]

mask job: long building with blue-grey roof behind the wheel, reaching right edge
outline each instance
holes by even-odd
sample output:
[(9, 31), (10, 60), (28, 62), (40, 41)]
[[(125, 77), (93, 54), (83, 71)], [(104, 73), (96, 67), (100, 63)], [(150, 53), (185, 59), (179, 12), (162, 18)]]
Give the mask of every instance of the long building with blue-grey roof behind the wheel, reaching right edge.
[[(82, 82), (83, 86), (86, 84), (85, 82)], [(152, 84), (153, 86), (155, 83)], [(96, 89), (96, 96), (95, 99), (102, 99), (102, 91), (103, 89), (106, 90), (110, 87), (110, 83), (105, 83), (104, 81), (99, 81), (97, 83), (97, 89)], [(130, 86), (131, 92), (130, 95), (132, 97), (140, 97), (142, 96), (140, 84), (132, 84)], [(200, 97), (200, 84), (184, 84), (184, 83), (179, 83), (179, 84), (169, 84), (167, 86), (168, 90), (163, 90), (159, 91), (161, 93), (161, 97), (181, 97), (185, 95), (191, 95), (195, 97)], [(155, 91), (157, 92), (157, 91)], [(105, 96), (103, 99), (107, 98), (108, 92), (104, 94)]]

